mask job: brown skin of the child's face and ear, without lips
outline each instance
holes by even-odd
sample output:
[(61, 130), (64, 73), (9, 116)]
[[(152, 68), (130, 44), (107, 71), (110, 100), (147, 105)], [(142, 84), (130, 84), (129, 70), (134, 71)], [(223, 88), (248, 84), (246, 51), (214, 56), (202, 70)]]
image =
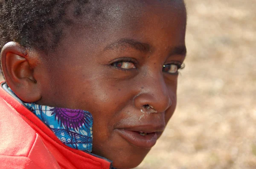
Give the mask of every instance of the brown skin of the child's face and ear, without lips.
[(1, 62), (23, 101), (92, 113), (93, 153), (116, 168), (133, 168), (150, 149), (132, 145), (116, 129), (145, 124), (162, 134), (176, 107), (178, 77), (163, 65), (185, 59), (186, 9), (180, 0), (106, 4), (105, 19), (95, 24), (101, 26), (84, 29), (80, 20), (66, 28), (51, 58), (10, 42)]

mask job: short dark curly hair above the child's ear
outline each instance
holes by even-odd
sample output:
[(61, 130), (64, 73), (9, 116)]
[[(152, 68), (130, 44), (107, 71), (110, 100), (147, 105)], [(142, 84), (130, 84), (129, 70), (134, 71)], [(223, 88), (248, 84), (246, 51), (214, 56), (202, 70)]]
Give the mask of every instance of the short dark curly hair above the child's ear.
[(0, 50), (10, 41), (45, 52), (54, 49), (74, 18), (101, 13), (93, 5), (98, 1), (0, 0)]

